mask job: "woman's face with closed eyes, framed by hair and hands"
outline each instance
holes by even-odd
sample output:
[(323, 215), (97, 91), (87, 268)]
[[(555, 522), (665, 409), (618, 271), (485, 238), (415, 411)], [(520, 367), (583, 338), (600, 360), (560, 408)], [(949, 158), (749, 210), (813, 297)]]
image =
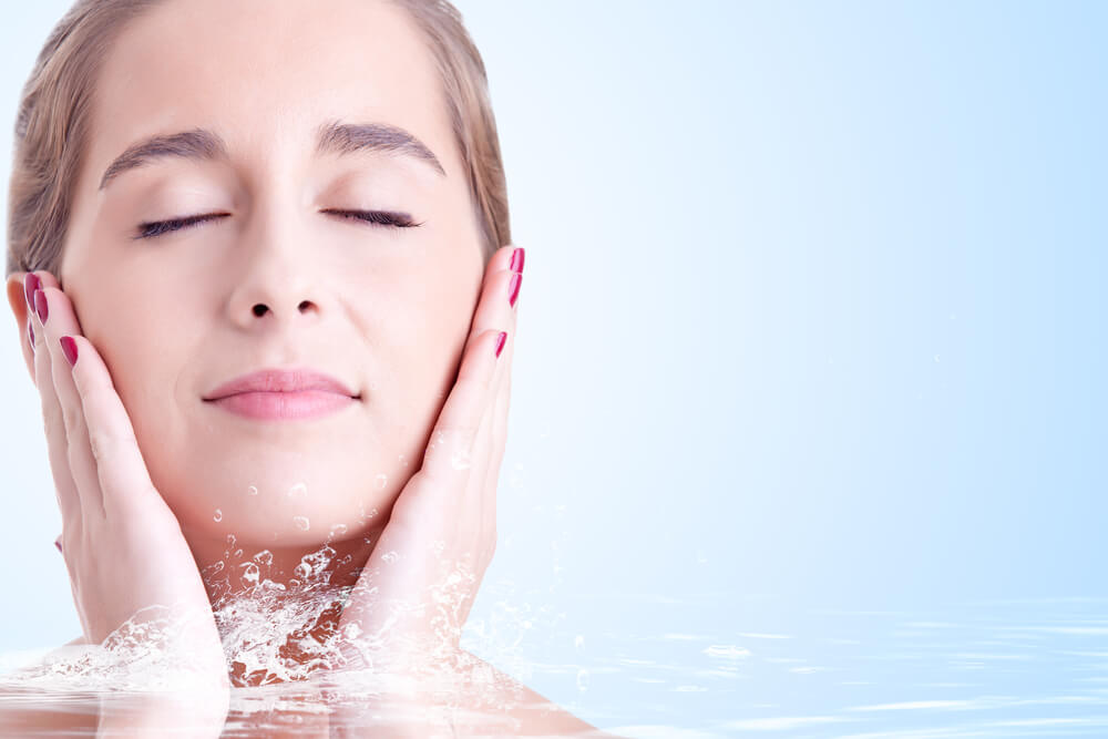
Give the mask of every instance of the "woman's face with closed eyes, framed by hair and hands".
[[(186, 534), (311, 545), (381, 523), (420, 466), (484, 269), (418, 29), (368, 0), (170, 1), (112, 47), (93, 115), (60, 280)], [(361, 124), (391, 129), (329, 127)], [(213, 140), (163, 144), (101, 186), (140, 142), (198, 130)], [(201, 215), (217, 217), (136, 238)], [(326, 372), (360, 399), (281, 421), (204, 400), (263, 368)]]

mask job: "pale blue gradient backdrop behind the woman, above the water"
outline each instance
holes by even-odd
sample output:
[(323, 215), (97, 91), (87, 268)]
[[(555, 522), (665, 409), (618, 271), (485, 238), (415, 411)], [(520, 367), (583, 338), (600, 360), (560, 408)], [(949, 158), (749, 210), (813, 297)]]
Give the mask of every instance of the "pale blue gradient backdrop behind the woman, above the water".
[[(697, 594), (720, 629), (1108, 595), (1108, 4), (456, 4), (527, 248), (472, 618), (572, 661)], [(6, 147), (68, 6), (6, 14)], [(13, 326), (0, 653), (80, 633)], [(624, 695), (575, 673), (532, 685)]]

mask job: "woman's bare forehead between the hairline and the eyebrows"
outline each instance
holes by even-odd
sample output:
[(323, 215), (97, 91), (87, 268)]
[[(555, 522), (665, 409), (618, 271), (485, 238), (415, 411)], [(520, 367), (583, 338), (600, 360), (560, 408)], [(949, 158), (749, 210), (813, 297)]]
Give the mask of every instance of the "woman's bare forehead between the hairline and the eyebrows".
[[(314, 152), (326, 121), (411, 132), (458, 163), (433, 57), (376, 0), (170, 0), (131, 21), (96, 83), (89, 177), (134, 142), (206, 127), (236, 158)], [(95, 185), (93, 185), (95, 186)]]

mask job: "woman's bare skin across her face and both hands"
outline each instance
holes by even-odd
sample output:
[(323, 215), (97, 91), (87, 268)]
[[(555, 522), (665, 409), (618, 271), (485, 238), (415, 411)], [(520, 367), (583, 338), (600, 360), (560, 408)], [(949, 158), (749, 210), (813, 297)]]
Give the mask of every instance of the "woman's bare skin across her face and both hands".
[[(171, 1), (121, 34), (98, 93), (60, 274), (8, 280), (42, 398), (79, 640), (101, 644), (144, 605), (206, 613), (176, 646), (226, 686), (212, 607), (227, 589), (204, 573), (268, 551), (269, 577), (288, 585), (326, 543), (331, 584), (355, 586), (328, 626), (372, 633), (383, 604), (449, 592), (445, 620), (435, 608), (402, 617), (373, 658), (407, 669), (464, 656), (461, 627), (495, 550), (523, 261), (511, 245), (482, 259), (418, 29), (361, 0), (328, 12)], [(394, 152), (317, 155), (334, 121), (403, 129), (441, 172)], [(101, 187), (136, 141), (196, 129), (227, 158), (161, 158)], [(403, 212), (412, 225), (351, 212)], [(211, 217), (141, 237), (144, 224), (196, 215)], [(328, 372), (355, 402), (263, 422), (205, 399), (263, 367)], [(520, 710), (531, 721), (520, 733), (592, 728)]]

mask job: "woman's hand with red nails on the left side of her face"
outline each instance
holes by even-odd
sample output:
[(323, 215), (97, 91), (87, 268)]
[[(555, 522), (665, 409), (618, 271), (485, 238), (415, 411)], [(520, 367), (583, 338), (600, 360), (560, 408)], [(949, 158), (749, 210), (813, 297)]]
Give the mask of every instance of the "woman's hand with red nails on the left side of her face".
[[(229, 686), (199, 571), (151, 482), (107, 367), (81, 335), (53, 275), (31, 273), (24, 287), (34, 314), (34, 377), (62, 513), (61, 548), (85, 640), (103, 644), (132, 620), (135, 633), (156, 636), (168, 654), (187, 654), (183, 671)], [(154, 618), (164, 620), (154, 625)]]

